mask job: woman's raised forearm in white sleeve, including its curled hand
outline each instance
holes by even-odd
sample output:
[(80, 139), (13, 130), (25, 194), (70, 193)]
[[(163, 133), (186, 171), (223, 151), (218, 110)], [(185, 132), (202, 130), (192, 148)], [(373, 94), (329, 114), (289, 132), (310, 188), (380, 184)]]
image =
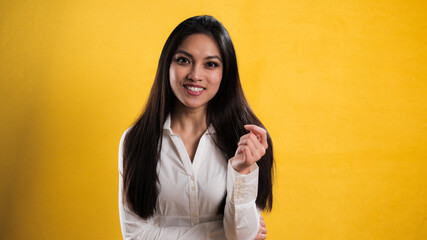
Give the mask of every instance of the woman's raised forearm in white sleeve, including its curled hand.
[(224, 229), (230, 240), (258, 239), (258, 232), (264, 231), (255, 203), (259, 172), (256, 162), (268, 147), (267, 132), (255, 125), (245, 125), (245, 128), (250, 133), (240, 138), (235, 156), (228, 162)]

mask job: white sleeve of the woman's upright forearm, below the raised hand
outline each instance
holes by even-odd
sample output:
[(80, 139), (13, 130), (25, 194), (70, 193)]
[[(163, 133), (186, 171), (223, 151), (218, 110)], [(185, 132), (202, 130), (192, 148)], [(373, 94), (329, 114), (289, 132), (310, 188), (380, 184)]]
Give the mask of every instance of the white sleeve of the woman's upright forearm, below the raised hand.
[(227, 166), (227, 199), (224, 209), (224, 230), (227, 240), (252, 240), (258, 233), (261, 211), (255, 200), (258, 192), (258, 166), (248, 175)]

